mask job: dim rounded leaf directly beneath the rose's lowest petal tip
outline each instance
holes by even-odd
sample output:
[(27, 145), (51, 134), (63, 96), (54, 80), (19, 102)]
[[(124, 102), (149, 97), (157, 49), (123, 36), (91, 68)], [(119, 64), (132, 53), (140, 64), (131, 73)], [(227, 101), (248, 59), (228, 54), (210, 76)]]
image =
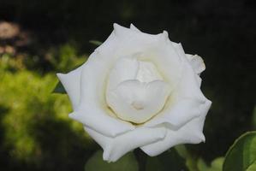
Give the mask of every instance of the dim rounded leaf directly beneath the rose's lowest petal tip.
[(98, 150), (92, 157), (86, 162), (85, 171), (138, 171), (138, 162), (132, 152), (125, 156), (122, 156), (117, 162), (104, 162), (103, 152)]

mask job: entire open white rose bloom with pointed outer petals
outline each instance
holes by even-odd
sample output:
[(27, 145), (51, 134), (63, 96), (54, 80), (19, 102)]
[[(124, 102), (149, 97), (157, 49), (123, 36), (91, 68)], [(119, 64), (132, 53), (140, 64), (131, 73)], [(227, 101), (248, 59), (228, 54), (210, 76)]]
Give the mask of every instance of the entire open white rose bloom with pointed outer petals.
[(211, 106), (200, 90), (205, 64), (185, 54), (168, 33), (147, 34), (133, 25), (114, 31), (88, 60), (57, 74), (86, 132), (115, 162), (140, 147), (157, 156), (176, 144), (198, 144)]

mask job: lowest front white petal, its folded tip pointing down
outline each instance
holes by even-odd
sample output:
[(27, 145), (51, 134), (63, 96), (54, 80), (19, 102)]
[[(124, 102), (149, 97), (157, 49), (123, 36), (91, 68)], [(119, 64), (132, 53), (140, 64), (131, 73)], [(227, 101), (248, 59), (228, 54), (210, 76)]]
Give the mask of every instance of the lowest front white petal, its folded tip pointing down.
[(164, 139), (166, 133), (164, 127), (138, 127), (134, 131), (123, 133), (116, 138), (109, 138), (88, 127), (85, 127), (85, 129), (104, 149), (103, 158), (108, 162), (116, 162), (130, 150)]

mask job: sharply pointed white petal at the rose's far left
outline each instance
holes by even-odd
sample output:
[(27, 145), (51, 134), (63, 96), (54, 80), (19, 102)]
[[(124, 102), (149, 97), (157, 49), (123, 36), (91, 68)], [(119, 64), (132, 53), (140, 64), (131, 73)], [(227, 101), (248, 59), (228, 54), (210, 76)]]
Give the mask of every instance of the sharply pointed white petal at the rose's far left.
[(57, 74), (58, 79), (68, 92), (68, 97), (71, 100), (73, 109), (77, 109), (80, 102), (80, 74), (84, 65), (74, 69), (68, 74)]

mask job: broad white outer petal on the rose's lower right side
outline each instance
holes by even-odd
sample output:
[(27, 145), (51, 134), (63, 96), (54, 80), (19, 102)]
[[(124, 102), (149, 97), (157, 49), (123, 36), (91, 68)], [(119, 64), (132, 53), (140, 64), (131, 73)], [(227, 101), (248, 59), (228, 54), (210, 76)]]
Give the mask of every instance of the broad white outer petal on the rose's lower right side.
[(199, 89), (193, 69), (188, 62), (184, 62), (182, 80), (170, 95), (163, 111), (146, 127), (154, 127), (162, 123), (169, 123), (172, 127), (182, 127), (185, 123), (200, 115), (199, 109), (205, 105), (207, 99)]

